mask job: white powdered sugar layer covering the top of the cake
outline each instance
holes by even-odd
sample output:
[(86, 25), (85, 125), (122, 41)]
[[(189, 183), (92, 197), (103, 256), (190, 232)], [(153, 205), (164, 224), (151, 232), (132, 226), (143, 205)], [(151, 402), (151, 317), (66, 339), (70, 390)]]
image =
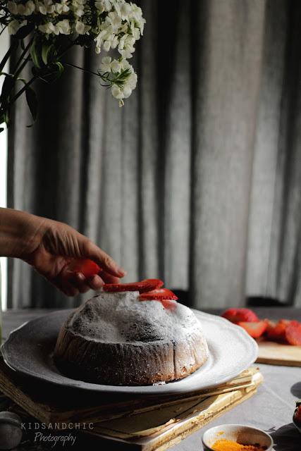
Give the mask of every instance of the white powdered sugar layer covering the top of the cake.
[(161, 302), (140, 301), (139, 292), (102, 292), (88, 300), (68, 322), (73, 333), (110, 343), (182, 341), (202, 330), (183, 304), (165, 309)]

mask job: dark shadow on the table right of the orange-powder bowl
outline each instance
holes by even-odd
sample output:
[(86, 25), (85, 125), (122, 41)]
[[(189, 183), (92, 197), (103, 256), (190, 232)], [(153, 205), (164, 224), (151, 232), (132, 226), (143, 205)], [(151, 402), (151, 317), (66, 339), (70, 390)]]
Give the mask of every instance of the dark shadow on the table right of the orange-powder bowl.
[(271, 428), (268, 432), (274, 440), (276, 451), (298, 451), (300, 450), (300, 432), (293, 423), (285, 424), (281, 428)]

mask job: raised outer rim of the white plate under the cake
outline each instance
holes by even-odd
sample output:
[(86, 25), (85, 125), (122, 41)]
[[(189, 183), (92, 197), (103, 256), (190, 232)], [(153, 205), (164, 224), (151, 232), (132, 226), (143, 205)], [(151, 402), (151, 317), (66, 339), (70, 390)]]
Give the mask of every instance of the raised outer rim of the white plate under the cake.
[[(13, 342), (16, 337), (21, 333), (25, 333), (25, 328), (30, 326), (36, 326), (37, 322), (43, 323), (46, 322), (46, 328), (44, 328), (44, 336), (43, 338), (47, 339), (47, 324), (49, 324), (50, 316), (59, 318), (59, 326), (58, 326), (58, 333), (59, 328), (61, 328), (63, 321), (66, 320), (66, 318), (70, 315), (70, 313), (74, 311), (74, 309), (61, 309), (58, 311), (53, 311), (47, 315), (39, 316), (39, 318), (33, 319), (31, 321), (26, 321), (18, 328), (11, 331), (11, 333), (8, 335), (7, 340), (1, 345), (1, 352), (4, 357), (4, 362), (6, 365), (8, 365), (13, 371), (17, 371), (18, 373), (23, 374), (24, 376), (30, 376), (32, 378), (36, 378), (39, 381), (43, 381), (44, 383), (51, 383), (53, 385), (60, 385), (68, 388), (74, 388), (79, 390), (87, 390), (87, 391), (94, 391), (99, 393), (123, 393), (123, 394), (132, 394), (132, 395), (171, 395), (173, 393), (193, 393), (197, 392), (198, 390), (207, 390), (209, 388), (214, 388), (216, 385), (220, 385), (221, 383), (225, 383), (227, 381), (230, 381), (235, 376), (238, 376), (241, 371), (245, 370), (255, 362), (257, 359), (258, 354), (258, 346), (255, 340), (253, 340), (250, 335), (247, 334), (247, 332), (241, 328), (240, 326), (235, 326), (235, 324), (231, 323), (227, 319), (222, 318), (221, 316), (216, 316), (212, 314), (204, 313), (203, 311), (198, 311), (195, 309), (192, 309), (194, 313), (196, 314), (197, 318), (200, 320), (202, 324), (202, 328), (204, 330), (204, 335), (206, 337), (206, 326), (207, 323), (213, 323), (214, 326), (221, 326), (223, 330), (227, 330), (228, 333), (231, 333), (233, 335), (233, 338), (235, 340), (240, 340), (240, 342), (244, 342), (245, 346), (248, 348), (248, 352), (245, 353), (244, 358), (241, 360), (241, 362), (238, 362), (238, 365), (235, 366), (235, 369), (233, 371), (228, 371), (228, 373), (224, 374), (223, 376), (219, 376), (219, 378), (215, 378), (213, 381), (209, 381), (209, 383), (201, 383), (199, 384), (199, 387), (195, 386), (196, 384), (193, 384), (193, 387), (190, 386), (190, 381), (192, 378), (196, 379), (197, 376), (200, 376), (202, 378), (202, 372), (208, 371), (210, 369), (210, 366), (214, 365), (213, 359), (209, 356), (209, 360), (201, 366), (197, 371), (190, 374), (189, 376), (180, 379), (178, 381), (171, 381), (166, 384), (162, 385), (101, 385), (101, 384), (94, 384), (94, 383), (87, 383), (84, 381), (78, 381), (76, 379), (68, 378), (67, 376), (64, 376), (62, 373), (59, 372), (58, 369), (56, 369), (53, 362), (50, 361), (51, 359), (51, 352), (45, 356), (44, 364), (46, 365), (47, 369), (49, 370), (48, 375), (44, 375), (42, 373), (37, 373), (36, 371), (32, 371), (30, 369), (30, 366), (32, 366), (32, 354), (26, 356), (28, 361), (31, 363), (27, 367), (20, 364), (20, 362), (14, 361), (12, 357), (12, 353), (10, 352), (10, 347), (13, 346)], [(204, 326), (204, 323), (206, 321), (206, 326)], [(31, 327), (31, 331), (35, 330)], [(207, 340), (208, 341), (208, 340)], [(216, 341), (217, 342), (217, 341)], [(214, 344), (216, 345), (216, 342)], [(210, 347), (209, 347), (210, 350)], [(37, 353), (33, 354), (35, 357), (35, 362), (37, 364), (41, 364), (42, 360), (37, 359)], [(54, 371), (51, 366), (54, 366), (56, 371)]]

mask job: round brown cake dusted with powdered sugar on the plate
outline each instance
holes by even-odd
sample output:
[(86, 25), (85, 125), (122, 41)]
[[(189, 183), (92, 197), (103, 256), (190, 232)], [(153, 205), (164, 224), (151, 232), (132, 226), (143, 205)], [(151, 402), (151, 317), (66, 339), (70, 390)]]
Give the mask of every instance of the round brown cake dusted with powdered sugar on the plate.
[(195, 314), (139, 292), (102, 292), (63, 324), (54, 361), (66, 376), (105, 385), (151, 385), (185, 378), (208, 358)]

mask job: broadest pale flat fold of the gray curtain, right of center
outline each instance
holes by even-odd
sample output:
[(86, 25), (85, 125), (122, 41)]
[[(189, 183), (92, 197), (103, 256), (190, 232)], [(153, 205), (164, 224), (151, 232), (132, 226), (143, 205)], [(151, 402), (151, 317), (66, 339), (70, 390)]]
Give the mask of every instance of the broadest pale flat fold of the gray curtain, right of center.
[[(204, 3), (204, 2), (203, 2)], [(192, 295), (245, 302), (249, 196), (262, 66), (264, 2), (208, 1), (200, 9), (192, 169)], [(199, 299), (199, 300), (198, 300)]]

